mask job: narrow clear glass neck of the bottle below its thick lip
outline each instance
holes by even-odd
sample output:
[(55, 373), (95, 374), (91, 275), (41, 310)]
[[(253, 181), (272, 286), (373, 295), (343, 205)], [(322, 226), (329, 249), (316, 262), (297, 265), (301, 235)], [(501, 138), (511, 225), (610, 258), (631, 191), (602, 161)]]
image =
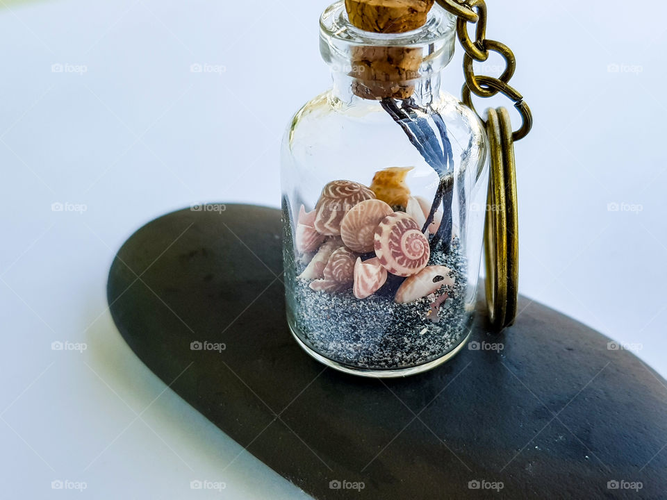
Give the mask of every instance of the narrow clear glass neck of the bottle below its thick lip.
[(422, 108), (437, 106), (442, 99), (441, 83), (443, 71), (433, 72), (429, 76), (410, 81), (366, 81), (347, 72), (332, 73), (334, 86), (331, 97), (345, 106), (356, 106), (384, 97), (412, 99)]

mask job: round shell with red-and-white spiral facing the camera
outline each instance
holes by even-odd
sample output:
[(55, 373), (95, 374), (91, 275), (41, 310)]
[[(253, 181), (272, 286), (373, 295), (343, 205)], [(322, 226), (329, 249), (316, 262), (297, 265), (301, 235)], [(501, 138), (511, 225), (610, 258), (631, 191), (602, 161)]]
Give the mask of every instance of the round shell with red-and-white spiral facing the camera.
[(415, 219), (404, 212), (387, 215), (375, 230), (375, 255), (391, 274), (411, 276), (429, 262), (429, 240)]

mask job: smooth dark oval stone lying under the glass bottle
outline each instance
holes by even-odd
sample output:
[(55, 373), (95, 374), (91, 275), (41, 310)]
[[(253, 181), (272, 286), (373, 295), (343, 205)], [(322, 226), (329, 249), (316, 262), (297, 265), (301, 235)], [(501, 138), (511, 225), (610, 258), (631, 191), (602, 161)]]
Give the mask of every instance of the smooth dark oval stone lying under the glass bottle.
[(507, 333), (473, 335), (500, 353), (387, 381), (325, 369), (288, 331), (280, 234), (269, 208), (165, 215), (119, 251), (108, 300), (139, 358), (289, 481), (320, 499), (665, 498), (667, 388), (632, 353), (522, 298)]

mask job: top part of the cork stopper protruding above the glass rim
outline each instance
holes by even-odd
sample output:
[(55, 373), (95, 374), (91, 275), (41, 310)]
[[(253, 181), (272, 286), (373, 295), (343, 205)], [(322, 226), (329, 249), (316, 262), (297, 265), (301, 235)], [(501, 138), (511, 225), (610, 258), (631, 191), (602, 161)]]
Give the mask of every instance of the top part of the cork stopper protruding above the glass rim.
[(345, 0), (349, 22), (363, 31), (405, 33), (421, 28), (434, 0)]

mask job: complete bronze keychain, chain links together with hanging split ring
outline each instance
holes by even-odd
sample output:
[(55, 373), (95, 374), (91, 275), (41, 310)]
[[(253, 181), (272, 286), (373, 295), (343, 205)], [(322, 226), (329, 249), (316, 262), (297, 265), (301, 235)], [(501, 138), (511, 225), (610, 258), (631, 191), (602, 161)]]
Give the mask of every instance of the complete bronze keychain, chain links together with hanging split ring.
[[(489, 108), (487, 119), (483, 120), (491, 158), (488, 206), (484, 223), (486, 304), (491, 324), (496, 331), (502, 331), (513, 324), (518, 301), (518, 211), (514, 142), (528, 135), (533, 125), (533, 116), (520, 92), (509, 85), (516, 69), (514, 53), (507, 45), (486, 38), (486, 2), (436, 1), (457, 17), (456, 35), (466, 52), (463, 56), (463, 76), (466, 83), (461, 90), (463, 103), (477, 113), (472, 103), (472, 94), (479, 97), (502, 94), (513, 101), (522, 119), (517, 131), (512, 131), (509, 111), (506, 108)], [(476, 25), (475, 40), (472, 40), (468, 33), (469, 23)], [(506, 67), (498, 77), (475, 74), (475, 61), (486, 61), (489, 51), (499, 53), (505, 60)], [(479, 113), (477, 115), (479, 116)]]

